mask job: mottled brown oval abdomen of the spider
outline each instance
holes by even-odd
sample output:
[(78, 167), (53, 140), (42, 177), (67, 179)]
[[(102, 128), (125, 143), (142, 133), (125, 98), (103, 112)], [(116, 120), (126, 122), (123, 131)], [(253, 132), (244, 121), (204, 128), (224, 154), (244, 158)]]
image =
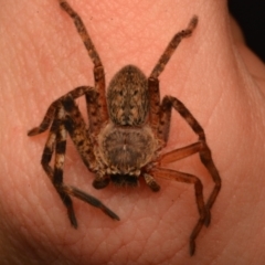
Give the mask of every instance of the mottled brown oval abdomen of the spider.
[(116, 125), (139, 126), (148, 113), (148, 86), (145, 74), (134, 65), (123, 67), (107, 91), (109, 118)]

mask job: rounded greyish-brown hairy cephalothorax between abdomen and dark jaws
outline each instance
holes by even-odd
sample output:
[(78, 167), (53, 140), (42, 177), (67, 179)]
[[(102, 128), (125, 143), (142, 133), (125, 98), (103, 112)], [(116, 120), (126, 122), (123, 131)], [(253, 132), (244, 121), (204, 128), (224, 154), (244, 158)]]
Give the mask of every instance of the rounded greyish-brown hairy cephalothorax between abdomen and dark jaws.
[(109, 174), (139, 176), (156, 153), (157, 142), (148, 126), (117, 128), (108, 125), (99, 136), (100, 157)]

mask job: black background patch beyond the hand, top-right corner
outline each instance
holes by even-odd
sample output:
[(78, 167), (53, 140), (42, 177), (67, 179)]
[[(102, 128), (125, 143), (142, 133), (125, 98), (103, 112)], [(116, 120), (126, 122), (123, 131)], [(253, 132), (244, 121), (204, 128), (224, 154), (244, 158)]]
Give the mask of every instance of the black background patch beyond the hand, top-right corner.
[(247, 46), (265, 63), (265, 0), (229, 0)]

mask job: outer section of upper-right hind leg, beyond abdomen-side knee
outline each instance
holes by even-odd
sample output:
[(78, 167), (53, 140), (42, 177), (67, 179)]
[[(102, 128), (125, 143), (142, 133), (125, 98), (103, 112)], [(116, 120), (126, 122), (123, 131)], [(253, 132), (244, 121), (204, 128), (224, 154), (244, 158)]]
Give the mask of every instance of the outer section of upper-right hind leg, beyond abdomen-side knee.
[(179, 43), (181, 42), (181, 40), (184, 38), (191, 36), (197, 24), (198, 24), (198, 17), (194, 15), (190, 20), (187, 29), (178, 32), (173, 36), (173, 39), (170, 41), (170, 43), (166, 47), (165, 52), (160, 56), (158, 63), (153, 67), (151, 75), (150, 75), (151, 78), (158, 78), (158, 76), (162, 73), (163, 68), (166, 67), (167, 63), (169, 62), (170, 57), (172, 56), (173, 52), (176, 51), (176, 49), (179, 45)]

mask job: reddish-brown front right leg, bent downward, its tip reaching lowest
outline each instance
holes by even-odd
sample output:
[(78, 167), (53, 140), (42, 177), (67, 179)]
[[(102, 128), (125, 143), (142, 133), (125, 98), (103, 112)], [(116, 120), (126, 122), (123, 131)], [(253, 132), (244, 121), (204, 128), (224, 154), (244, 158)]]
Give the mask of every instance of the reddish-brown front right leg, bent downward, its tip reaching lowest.
[(165, 178), (169, 180), (173, 179), (176, 181), (194, 184), (195, 200), (197, 200), (197, 206), (200, 214), (200, 219), (190, 235), (190, 255), (193, 255), (195, 252), (195, 239), (200, 233), (208, 215), (205, 210), (205, 204), (203, 201), (203, 187), (202, 187), (201, 180), (198, 177), (189, 173), (183, 173), (183, 172), (174, 171), (171, 169), (163, 169), (163, 168), (152, 168), (148, 173), (150, 173), (155, 178)]

